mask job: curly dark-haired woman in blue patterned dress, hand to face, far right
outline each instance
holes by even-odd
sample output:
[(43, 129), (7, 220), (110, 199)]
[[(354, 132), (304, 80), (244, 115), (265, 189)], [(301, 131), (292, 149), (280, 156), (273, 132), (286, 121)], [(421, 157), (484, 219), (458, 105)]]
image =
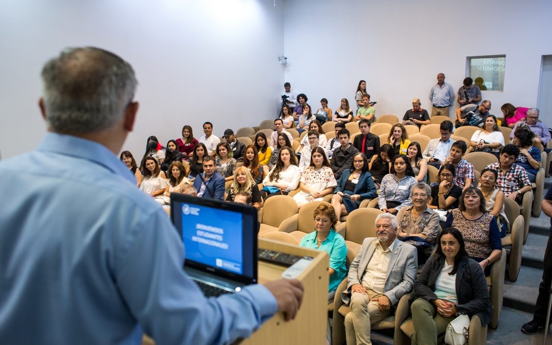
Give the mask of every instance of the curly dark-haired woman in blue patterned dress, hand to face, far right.
[(516, 158), (516, 164), (521, 166), (527, 172), (529, 181), (532, 183), (537, 179), (537, 173), (540, 168), (540, 150), (533, 146), (535, 134), (526, 126), (518, 127), (514, 132), (512, 144), (519, 147), (519, 155)]

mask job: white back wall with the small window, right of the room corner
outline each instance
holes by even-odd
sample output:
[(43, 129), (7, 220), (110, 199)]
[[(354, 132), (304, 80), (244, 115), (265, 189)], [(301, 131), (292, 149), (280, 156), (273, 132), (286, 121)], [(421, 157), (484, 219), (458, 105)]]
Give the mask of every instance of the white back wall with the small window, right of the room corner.
[[(443, 72), (455, 91), (466, 57), (506, 54), (503, 92), (484, 91), (500, 107), (535, 107), (542, 55), (552, 54), (552, 2), (513, 0), (295, 0), (286, 2), (285, 79), (311, 108), (326, 97), (335, 111), (355, 108), (358, 81), (376, 100), (376, 117), (402, 118), (413, 98), (431, 108), (429, 90)], [(452, 113), (451, 113), (452, 114)], [(552, 119), (543, 119), (552, 126)]]

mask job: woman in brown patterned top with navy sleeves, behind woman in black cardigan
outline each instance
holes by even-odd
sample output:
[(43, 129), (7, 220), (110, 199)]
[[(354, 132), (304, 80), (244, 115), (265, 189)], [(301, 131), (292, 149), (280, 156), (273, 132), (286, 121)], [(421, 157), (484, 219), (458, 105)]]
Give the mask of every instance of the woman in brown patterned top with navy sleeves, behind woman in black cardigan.
[(466, 242), (466, 252), (479, 262), (485, 274), (502, 255), (500, 229), (495, 216), (487, 212), (481, 190), (469, 187), (460, 195), (460, 204), (447, 216), (444, 227), (460, 230)]

